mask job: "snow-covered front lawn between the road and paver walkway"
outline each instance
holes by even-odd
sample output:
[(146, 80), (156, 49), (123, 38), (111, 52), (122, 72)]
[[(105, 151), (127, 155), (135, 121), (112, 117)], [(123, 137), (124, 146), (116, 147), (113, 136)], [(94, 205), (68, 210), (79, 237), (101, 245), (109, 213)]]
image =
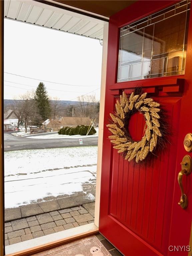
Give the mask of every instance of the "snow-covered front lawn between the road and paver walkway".
[(83, 191), (96, 164), (96, 146), (5, 152), (5, 208)]

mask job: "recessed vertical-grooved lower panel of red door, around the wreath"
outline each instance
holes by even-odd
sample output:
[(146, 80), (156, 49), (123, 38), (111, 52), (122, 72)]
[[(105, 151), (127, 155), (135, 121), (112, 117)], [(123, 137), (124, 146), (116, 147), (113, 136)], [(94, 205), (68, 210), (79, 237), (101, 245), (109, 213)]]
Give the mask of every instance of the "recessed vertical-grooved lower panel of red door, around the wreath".
[[(112, 216), (123, 228), (133, 231), (164, 255), (169, 242), (172, 209), (169, 205), (173, 202), (181, 98), (160, 98), (159, 102), (167, 110), (173, 142), (148, 166), (129, 163), (112, 149), (108, 217)], [(141, 117), (137, 113), (132, 126), (140, 135), (144, 124)]]

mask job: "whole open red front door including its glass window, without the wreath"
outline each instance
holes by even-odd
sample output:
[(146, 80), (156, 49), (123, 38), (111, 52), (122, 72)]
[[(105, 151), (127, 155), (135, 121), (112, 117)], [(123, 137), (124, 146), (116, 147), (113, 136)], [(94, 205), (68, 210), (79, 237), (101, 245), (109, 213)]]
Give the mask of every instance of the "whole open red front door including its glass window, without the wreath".
[[(183, 157), (192, 157), (183, 145), (192, 133), (190, 1), (137, 1), (114, 14), (107, 58), (99, 230), (125, 256), (188, 255), (192, 175), (183, 175), (186, 209), (177, 179)], [(119, 95), (137, 86), (166, 110), (171, 128), (166, 149), (144, 165), (124, 160), (106, 127)], [(134, 140), (144, 124), (139, 113), (131, 117)]]

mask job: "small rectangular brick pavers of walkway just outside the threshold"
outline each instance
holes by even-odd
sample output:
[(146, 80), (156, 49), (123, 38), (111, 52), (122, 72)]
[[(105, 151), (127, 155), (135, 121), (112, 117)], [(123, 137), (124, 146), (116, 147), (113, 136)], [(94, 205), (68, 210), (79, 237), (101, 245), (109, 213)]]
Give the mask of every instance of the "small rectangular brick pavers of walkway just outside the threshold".
[(94, 204), (93, 202), (6, 222), (5, 246), (92, 223)]

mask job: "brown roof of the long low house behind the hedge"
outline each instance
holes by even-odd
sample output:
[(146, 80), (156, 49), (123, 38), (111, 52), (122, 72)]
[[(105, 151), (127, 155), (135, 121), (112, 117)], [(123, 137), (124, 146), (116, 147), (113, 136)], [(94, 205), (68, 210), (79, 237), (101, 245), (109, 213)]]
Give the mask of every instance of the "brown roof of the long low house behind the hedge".
[(63, 120), (50, 120), (48, 126), (72, 126), (72, 125), (90, 125), (89, 117), (63, 117)]

